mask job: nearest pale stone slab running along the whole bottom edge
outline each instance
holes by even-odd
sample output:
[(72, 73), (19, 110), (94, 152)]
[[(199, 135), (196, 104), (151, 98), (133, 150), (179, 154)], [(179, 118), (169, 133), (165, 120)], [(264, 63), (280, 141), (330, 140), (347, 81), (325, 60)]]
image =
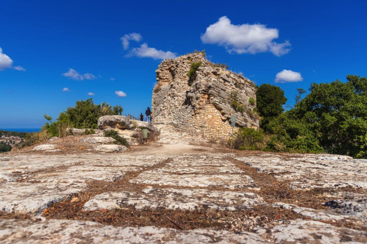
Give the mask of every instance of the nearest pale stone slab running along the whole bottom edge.
[(4, 243), (366, 243), (367, 233), (296, 219), (269, 229), (231, 232), (210, 228), (176, 230), (154, 226), (114, 227), (91, 221), (0, 219)]

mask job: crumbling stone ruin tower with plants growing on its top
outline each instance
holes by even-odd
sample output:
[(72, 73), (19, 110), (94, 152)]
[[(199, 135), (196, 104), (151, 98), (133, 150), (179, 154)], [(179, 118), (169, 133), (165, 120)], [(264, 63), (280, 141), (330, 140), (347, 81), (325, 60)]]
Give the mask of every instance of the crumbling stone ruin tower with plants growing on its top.
[[(192, 63), (201, 62), (188, 77)], [(219, 67), (202, 53), (165, 59), (156, 70), (157, 85), (152, 95), (152, 123), (171, 124), (178, 132), (206, 142), (220, 143), (232, 135), (231, 116), (236, 128), (258, 130), (254, 116), (255, 84), (241, 75)], [(252, 99), (252, 104), (250, 98)], [(242, 109), (233, 105), (234, 98)]]

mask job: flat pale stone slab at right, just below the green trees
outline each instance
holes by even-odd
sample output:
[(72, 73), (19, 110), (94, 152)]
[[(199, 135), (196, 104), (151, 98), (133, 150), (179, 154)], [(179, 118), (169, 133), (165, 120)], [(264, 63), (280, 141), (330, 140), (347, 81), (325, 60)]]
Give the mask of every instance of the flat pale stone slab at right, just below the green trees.
[(235, 157), (261, 173), (291, 180), (292, 189), (354, 187), (367, 189), (367, 160), (339, 155), (262, 154)]

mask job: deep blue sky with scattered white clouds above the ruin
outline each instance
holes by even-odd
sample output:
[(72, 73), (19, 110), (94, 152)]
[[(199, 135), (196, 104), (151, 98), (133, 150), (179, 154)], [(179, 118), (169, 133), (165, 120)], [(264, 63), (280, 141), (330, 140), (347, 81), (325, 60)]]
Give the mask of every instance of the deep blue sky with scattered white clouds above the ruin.
[(2, 1), (0, 128), (41, 127), (89, 97), (138, 116), (161, 58), (195, 49), (290, 105), (296, 88), (367, 75), (365, 1), (292, 2)]

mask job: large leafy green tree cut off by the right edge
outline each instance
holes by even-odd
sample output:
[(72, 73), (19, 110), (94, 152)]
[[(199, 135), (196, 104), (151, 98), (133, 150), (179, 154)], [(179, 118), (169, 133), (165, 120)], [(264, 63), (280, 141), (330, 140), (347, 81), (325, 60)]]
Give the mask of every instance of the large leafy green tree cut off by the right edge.
[(320, 145), (333, 154), (366, 157), (367, 79), (347, 75), (347, 82), (313, 83), (310, 94), (292, 111), (312, 124)]

